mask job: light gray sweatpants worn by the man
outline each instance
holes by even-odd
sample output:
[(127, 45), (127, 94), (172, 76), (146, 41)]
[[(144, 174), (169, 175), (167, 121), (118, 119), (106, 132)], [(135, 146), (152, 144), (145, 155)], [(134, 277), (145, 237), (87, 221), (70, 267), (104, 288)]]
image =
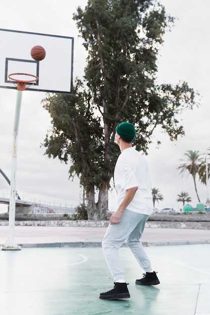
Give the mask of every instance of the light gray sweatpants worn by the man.
[(109, 224), (102, 242), (102, 248), (115, 281), (124, 279), (118, 250), (125, 241), (144, 271), (149, 272), (151, 270), (150, 260), (139, 241), (148, 217), (148, 215), (125, 209), (120, 223)]

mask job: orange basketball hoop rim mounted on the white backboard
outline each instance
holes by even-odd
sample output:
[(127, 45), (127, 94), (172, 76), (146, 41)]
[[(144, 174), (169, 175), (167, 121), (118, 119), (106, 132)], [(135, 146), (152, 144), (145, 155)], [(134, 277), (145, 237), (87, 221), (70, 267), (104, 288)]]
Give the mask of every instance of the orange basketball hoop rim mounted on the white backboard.
[[(18, 91), (25, 91), (27, 88), (34, 85), (38, 80), (38, 76), (28, 73), (11, 73), (8, 76), (10, 78), (10, 82), (13, 83), (15, 87), (17, 87)], [(27, 77), (28, 80), (26, 80)]]

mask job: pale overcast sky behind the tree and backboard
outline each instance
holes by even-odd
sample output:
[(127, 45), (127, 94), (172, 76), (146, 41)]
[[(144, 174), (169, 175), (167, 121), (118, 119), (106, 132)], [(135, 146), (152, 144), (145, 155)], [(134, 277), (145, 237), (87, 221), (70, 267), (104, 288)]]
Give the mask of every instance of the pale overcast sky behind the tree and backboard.
[[(182, 163), (187, 150), (205, 153), (209, 141), (209, 55), (210, 20), (209, 0), (161, 0), (167, 14), (175, 17), (171, 32), (164, 35), (164, 44), (158, 59), (158, 83), (177, 84), (186, 81), (198, 91), (199, 108), (186, 111), (180, 116), (185, 136), (176, 142), (160, 131), (155, 133), (146, 159), (150, 166), (153, 187), (159, 188), (164, 200), (156, 204), (159, 209), (181, 208), (176, 201), (181, 191), (188, 192), (190, 203), (198, 202), (192, 178), (181, 176), (177, 167)], [(34, 5), (25, 0), (10, 0), (1, 3), (0, 28), (74, 37), (74, 78), (82, 77), (86, 65), (86, 51), (72, 16), (76, 8), (84, 8), (87, 0), (37, 0)], [(1, 43), (3, 45), (3, 43)], [(1, 52), (0, 52), (1, 58)], [(56, 60), (55, 62), (59, 62)], [(62, 71), (62, 69), (61, 69)], [(0, 169), (11, 177), (13, 125), (16, 106), (16, 90), (0, 89)], [(77, 178), (68, 179), (69, 164), (44, 155), (41, 143), (50, 128), (49, 113), (41, 101), (44, 92), (24, 91), (18, 133), (16, 189), (21, 199), (47, 205), (76, 207), (82, 201), (82, 188)], [(157, 147), (157, 140), (161, 145)], [(209, 189), (197, 180), (201, 202), (209, 197)], [(0, 174), (0, 196), (9, 197), (10, 187)], [(0, 206), (0, 209), (5, 206)], [(109, 196), (109, 209), (116, 208), (116, 193)]]

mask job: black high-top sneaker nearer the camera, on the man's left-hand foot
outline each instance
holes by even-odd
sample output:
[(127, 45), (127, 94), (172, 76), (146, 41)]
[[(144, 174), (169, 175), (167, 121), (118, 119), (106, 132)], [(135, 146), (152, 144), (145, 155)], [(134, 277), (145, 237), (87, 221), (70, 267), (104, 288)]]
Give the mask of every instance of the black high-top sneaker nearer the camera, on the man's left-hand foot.
[(127, 285), (129, 283), (114, 282), (114, 288), (110, 291), (100, 293), (99, 298), (104, 300), (117, 300), (130, 297)]

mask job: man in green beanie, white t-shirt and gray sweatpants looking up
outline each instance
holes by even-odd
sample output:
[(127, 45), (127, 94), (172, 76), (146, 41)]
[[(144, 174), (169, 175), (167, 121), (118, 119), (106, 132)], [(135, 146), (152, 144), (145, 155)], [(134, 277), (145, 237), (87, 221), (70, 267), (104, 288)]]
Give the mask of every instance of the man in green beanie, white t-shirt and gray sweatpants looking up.
[(114, 288), (100, 293), (99, 297), (106, 300), (130, 297), (118, 253), (125, 241), (146, 273), (135, 283), (139, 285), (160, 283), (139, 241), (145, 223), (153, 212), (153, 202), (148, 164), (143, 155), (132, 147), (134, 138), (135, 128), (131, 123), (122, 122), (117, 125), (115, 141), (121, 154), (115, 165), (114, 184), (118, 195), (118, 208), (110, 217), (110, 224), (102, 242), (104, 256), (114, 278)]

